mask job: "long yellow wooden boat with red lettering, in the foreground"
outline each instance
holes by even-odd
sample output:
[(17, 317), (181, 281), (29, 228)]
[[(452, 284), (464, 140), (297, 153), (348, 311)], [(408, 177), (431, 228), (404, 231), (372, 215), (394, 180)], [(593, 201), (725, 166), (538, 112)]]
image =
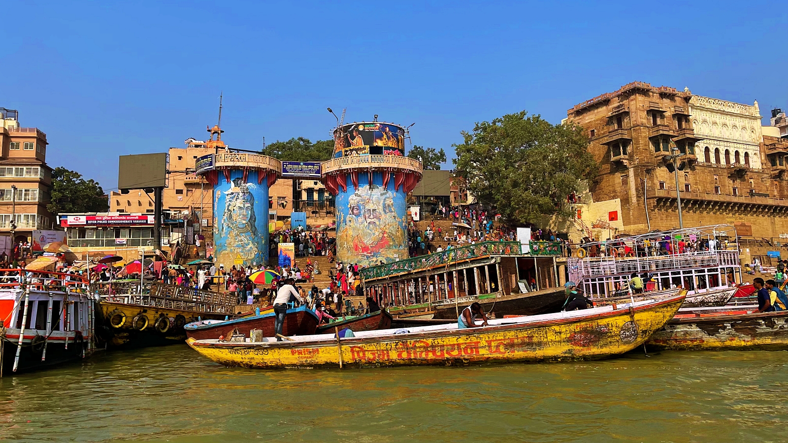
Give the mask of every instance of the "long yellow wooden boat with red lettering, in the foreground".
[(601, 359), (646, 341), (673, 318), (684, 295), (584, 311), (491, 320), (457, 329), (456, 322), (336, 334), (262, 338), (258, 342), (188, 340), (203, 356), (228, 367), (379, 367), (453, 365), (494, 361)]

